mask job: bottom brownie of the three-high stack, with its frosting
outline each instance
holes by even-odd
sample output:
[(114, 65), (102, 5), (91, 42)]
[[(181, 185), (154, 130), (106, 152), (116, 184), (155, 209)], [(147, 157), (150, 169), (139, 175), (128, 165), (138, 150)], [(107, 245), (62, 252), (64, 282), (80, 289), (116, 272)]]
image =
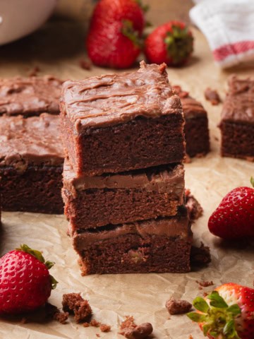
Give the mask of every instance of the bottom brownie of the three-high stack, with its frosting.
[(184, 273), (190, 270), (191, 225), (186, 208), (179, 215), (70, 234), (83, 274)]

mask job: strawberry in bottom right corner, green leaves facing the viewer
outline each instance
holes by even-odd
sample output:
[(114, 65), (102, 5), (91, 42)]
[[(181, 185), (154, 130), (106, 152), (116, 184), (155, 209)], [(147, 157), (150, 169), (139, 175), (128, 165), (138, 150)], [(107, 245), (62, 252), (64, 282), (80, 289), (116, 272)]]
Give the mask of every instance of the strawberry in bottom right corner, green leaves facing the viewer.
[(217, 287), (205, 299), (193, 300), (197, 312), (187, 316), (210, 339), (254, 338), (254, 290), (234, 283)]

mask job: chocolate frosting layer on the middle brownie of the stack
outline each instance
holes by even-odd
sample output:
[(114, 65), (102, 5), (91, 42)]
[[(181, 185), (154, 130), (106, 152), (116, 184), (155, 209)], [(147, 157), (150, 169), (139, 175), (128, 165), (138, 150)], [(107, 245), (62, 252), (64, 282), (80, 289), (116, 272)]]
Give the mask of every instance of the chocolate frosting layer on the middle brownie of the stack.
[[(183, 199), (183, 165), (167, 165), (119, 174), (104, 174), (95, 177), (76, 177), (68, 160), (63, 166), (63, 189), (74, 198), (76, 191), (85, 189), (144, 189), (159, 193), (174, 193)], [(181, 201), (183, 203), (183, 200)]]

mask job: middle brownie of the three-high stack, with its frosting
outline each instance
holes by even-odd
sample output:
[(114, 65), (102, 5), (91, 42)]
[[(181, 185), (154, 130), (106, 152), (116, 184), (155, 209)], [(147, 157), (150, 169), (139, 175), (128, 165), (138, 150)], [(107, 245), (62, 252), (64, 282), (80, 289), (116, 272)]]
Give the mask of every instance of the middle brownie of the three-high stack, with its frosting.
[(65, 214), (76, 230), (176, 215), (184, 203), (183, 165), (76, 177), (63, 166)]

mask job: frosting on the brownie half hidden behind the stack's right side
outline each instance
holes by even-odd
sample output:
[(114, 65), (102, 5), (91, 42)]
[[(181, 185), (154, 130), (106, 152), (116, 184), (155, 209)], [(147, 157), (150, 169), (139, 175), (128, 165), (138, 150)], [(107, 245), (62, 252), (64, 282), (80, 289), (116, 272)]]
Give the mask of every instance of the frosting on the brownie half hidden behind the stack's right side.
[(181, 99), (185, 119), (207, 117), (207, 112), (205, 111), (202, 104), (191, 97), (188, 92), (182, 90), (178, 85), (174, 85), (172, 88), (176, 91)]

